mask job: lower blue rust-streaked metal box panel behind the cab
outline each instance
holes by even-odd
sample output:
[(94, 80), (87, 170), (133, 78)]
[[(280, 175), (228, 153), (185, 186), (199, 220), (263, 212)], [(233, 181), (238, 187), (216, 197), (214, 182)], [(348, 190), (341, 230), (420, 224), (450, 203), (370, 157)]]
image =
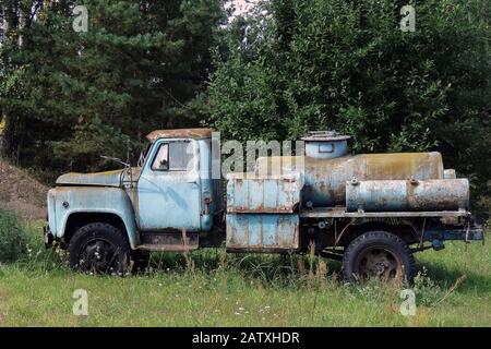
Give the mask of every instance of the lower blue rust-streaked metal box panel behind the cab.
[(287, 252), (299, 248), (298, 215), (227, 215), (228, 251)]

